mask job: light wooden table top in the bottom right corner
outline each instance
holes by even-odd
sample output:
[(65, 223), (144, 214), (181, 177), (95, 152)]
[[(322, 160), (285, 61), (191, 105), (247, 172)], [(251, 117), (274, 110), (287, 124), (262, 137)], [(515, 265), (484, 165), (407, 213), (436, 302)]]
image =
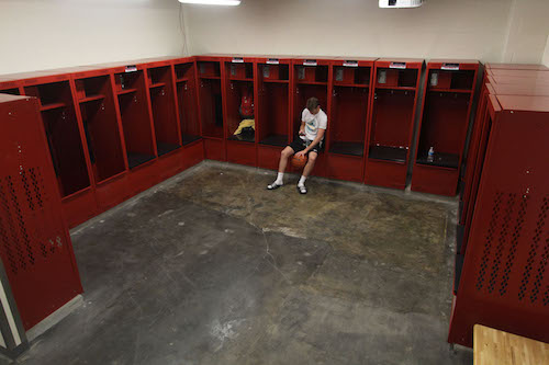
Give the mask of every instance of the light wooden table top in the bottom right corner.
[(474, 365), (548, 365), (549, 344), (475, 324)]

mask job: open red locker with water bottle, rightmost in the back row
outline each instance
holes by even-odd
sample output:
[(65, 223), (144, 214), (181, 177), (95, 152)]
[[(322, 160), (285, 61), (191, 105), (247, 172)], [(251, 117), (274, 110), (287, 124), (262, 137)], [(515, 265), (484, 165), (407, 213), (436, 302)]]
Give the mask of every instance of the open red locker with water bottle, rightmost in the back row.
[[(457, 194), (478, 70), (474, 60), (434, 59), (427, 64), (413, 191)], [(430, 148), (433, 157), (428, 156)]]

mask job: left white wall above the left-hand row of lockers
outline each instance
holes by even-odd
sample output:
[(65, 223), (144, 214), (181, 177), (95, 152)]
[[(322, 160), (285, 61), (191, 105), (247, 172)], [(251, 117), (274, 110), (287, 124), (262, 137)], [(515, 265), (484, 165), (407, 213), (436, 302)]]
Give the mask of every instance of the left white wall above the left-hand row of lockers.
[(179, 55), (176, 0), (0, 0), (0, 75)]

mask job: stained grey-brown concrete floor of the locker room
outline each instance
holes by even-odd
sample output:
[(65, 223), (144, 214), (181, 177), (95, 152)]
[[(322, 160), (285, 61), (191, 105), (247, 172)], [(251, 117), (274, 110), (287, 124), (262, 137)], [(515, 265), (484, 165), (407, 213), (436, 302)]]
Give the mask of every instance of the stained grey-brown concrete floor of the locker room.
[(72, 231), (85, 304), (20, 364), (471, 364), (457, 204), (204, 162)]

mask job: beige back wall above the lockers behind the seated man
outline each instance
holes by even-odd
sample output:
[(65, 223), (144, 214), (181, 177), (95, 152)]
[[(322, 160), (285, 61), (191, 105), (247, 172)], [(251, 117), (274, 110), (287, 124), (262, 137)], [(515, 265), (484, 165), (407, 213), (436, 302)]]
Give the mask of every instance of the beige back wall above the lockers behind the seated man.
[(184, 5), (184, 13), (194, 54), (498, 61), (509, 9), (511, 0), (427, 0), (406, 10), (379, 9), (378, 0), (243, 0), (234, 8)]

